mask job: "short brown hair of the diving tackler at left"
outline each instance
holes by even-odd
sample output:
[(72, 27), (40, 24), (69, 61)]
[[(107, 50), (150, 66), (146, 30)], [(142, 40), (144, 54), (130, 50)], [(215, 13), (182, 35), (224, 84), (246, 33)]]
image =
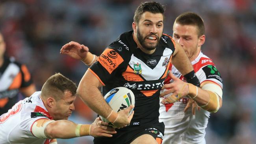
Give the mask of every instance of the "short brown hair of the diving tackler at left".
[(62, 74), (57, 73), (46, 80), (41, 95), (43, 97), (53, 96), (56, 100), (59, 100), (61, 99), (59, 96), (63, 95), (65, 90), (69, 90), (74, 96), (77, 90), (76, 84)]

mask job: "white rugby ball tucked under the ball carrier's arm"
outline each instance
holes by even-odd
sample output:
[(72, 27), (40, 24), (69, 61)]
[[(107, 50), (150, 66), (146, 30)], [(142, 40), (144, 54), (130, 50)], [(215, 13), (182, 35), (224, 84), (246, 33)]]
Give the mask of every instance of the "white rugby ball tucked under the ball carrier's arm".
[[(109, 106), (113, 109), (114, 112), (119, 112), (122, 109), (128, 108), (130, 105), (135, 105), (134, 93), (132, 90), (127, 89), (126, 87), (117, 87), (115, 89), (110, 90), (105, 96), (104, 99), (109, 104)], [(133, 109), (130, 111), (132, 114)], [(100, 119), (104, 122), (109, 121), (100, 116)], [(113, 126), (113, 124), (109, 124)]]

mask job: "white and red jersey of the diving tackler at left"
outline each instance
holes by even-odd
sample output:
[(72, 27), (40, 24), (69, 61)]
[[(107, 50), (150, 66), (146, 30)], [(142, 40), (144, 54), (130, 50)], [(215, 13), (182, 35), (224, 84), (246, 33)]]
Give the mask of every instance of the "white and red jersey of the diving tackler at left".
[(52, 119), (35, 92), (29, 98), (20, 100), (12, 109), (0, 116), (0, 144), (49, 144), (50, 140), (33, 135), (31, 128), (41, 118)]

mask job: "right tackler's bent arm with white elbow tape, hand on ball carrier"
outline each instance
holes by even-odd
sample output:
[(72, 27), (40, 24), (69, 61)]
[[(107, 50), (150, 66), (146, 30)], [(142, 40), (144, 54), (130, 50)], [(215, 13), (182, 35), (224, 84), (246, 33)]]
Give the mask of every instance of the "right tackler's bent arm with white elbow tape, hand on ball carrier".
[(184, 98), (189, 95), (197, 104), (209, 111), (210, 113), (215, 113), (222, 106), (222, 89), (219, 85), (207, 81), (202, 83), (201, 88), (195, 85), (188, 84), (179, 78), (169, 74), (169, 76), (174, 80), (173, 83), (165, 84), (162, 89), (169, 89), (162, 92), (160, 96), (165, 96), (173, 93), (171, 96), (164, 99), (161, 103), (174, 103), (180, 98)]

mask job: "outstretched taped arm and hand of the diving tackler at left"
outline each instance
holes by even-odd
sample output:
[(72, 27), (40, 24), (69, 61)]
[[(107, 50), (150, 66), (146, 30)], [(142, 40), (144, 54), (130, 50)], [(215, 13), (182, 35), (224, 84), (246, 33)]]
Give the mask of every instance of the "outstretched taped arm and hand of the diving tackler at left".
[(70, 120), (39, 119), (32, 126), (32, 133), (37, 138), (74, 138), (91, 135), (93, 137), (112, 137), (115, 129), (97, 118), (93, 124), (75, 124)]

